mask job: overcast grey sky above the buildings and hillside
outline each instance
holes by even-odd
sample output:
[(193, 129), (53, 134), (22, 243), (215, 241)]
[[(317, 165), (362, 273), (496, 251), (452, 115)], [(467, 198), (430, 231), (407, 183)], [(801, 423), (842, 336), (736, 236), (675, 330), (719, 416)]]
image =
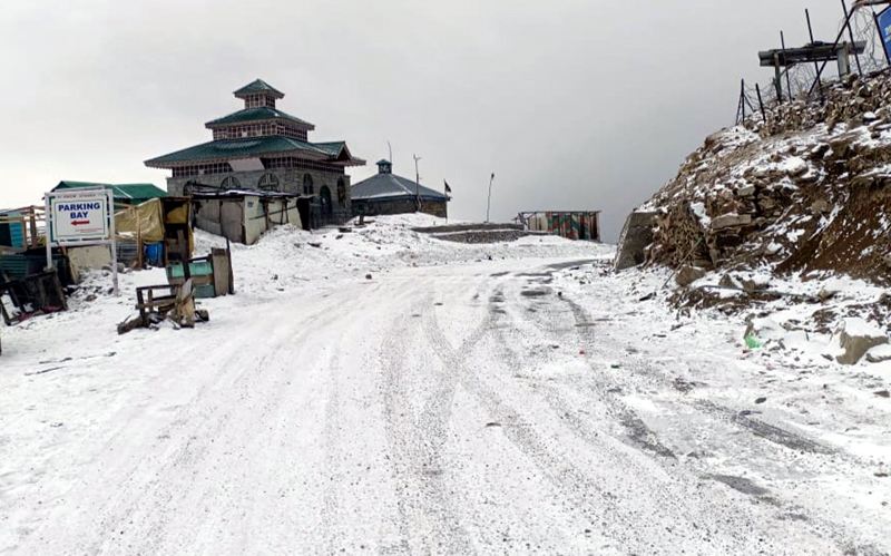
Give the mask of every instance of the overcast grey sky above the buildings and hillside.
[[(850, 3), (850, 2), (849, 2)], [(733, 124), (760, 49), (831, 41), (838, 0), (0, 0), (0, 206), (61, 179), (151, 182), (260, 77), (311, 140), (452, 187), (450, 214), (627, 213)]]

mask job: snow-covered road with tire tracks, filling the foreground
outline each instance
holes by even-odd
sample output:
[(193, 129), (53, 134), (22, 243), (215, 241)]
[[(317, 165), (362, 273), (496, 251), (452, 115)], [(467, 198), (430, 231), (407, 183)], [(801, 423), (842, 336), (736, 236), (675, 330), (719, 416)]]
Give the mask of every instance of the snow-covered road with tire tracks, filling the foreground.
[(856, 457), (687, 397), (558, 295), (574, 264), (398, 269), (6, 367), (0, 552), (891, 550), (887, 491), (802, 494), (872, 485)]

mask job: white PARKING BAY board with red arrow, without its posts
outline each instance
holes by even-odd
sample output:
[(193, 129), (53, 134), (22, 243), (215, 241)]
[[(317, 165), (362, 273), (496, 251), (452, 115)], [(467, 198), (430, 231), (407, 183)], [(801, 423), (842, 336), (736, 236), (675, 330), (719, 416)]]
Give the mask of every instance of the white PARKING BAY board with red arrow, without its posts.
[(51, 194), (52, 241), (58, 244), (109, 241), (114, 203), (109, 203), (109, 193), (87, 189)]

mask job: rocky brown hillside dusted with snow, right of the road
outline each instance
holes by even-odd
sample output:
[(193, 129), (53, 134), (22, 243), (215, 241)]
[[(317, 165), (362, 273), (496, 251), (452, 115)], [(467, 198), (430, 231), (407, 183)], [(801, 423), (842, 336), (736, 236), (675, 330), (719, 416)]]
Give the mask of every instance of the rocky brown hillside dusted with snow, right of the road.
[(891, 284), (891, 78), (824, 94), (708, 137), (638, 208), (644, 260)]

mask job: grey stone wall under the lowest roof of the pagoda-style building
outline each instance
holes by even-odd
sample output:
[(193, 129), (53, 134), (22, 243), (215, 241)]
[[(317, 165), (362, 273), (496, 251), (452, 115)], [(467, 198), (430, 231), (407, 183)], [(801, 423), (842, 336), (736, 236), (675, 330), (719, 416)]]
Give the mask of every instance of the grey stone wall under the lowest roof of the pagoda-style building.
[[(315, 169), (303, 168), (276, 168), (268, 170), (254, 170), (254, 172), (233, 172), (231, 174), (208, 174), (203, 176), (189, 177), (168, 177), (167, 178), (167, 193), (170, 195), (183, 195), (183, 186), (188, 182), (197, 182), (205, 185), (219, 186), (227, 177), (234, 177), (242, 184), (243, 189), (256, 189), (261, 176), (264, 174), (273, 174), (278, 178), (278, 189), (284, 193), (298, 193), (303, 194), (303, 179), (306, 174), (313, 178), (313, 193), (319, 195), (322, 186), (327, 186), (331, 189), (331, 203), (334, 212), (352, 212), (352, 199), (350, 197), (350, 176), (346, 174), (333, 174), (331, 172), (321, 172)], [(337, 199), (337, 179), (343, 179), (346, 199), (344, 203), (339, 203)]]

